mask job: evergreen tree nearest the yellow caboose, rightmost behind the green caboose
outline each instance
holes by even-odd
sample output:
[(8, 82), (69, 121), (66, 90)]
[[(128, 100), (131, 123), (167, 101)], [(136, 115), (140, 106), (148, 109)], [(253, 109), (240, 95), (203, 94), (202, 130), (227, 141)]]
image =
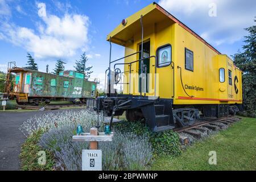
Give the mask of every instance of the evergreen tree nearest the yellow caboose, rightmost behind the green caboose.
[(86, 62), (88, 61), (88, 57), (86, 56), (85, 52), (82, 53), (80, 60), (76, 60), (76, 65), (75, 65), (75, 69), (77, 72), (81, 72), (84, 73), (85, 75), (85, 79), (88, 80), (88, 78), (90, 77), (90, 74), (93, 73), (93, 71), (90, 71), (90, 69), (92, 69), (92, 67), (86, 67)]

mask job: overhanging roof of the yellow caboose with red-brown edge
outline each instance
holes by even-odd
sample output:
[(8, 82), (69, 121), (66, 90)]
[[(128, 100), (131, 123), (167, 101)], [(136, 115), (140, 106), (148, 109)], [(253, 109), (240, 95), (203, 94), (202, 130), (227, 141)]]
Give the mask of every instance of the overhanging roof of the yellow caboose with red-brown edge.
[(142, 10), (139, 10), (137, 13), (129, 16), (127, 19), (126, 26), (123, 26), (121, 23), (107, 36), (107, 41), (109, 41), (111, 36), (111, 42), (125, 46), (125, 43), (133, 39), (135, 34), (141, 32), (141, 15), (143, 15), (143, 26), (146, 27), (148, 24), (162, 22), (165, 19), (169, 19), (174, 23), (179, 24), (217, 54), (221, 54), (217, 51), (216, 48), (207, 43), (201, 36), (197, 35), (196, 32), (188, 28), (184, 23), (180, 22), (174, 15), (168, 13), (164, 10), (163, 7), (159, 6), (157, 3), (151, 3), (150, 5), (144, 7)]

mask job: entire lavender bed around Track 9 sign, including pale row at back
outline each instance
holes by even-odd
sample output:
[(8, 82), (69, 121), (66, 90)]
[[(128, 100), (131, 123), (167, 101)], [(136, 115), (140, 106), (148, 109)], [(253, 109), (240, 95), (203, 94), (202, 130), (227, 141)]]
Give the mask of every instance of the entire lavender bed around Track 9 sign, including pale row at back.
[[(104, 120), (99, 115), (99, 122)], [(20, 131), (29, 136), (36, 131), (43, 131), (39, 146), (51, 151), (59, 169), (68, 171), (81, 170), (82, 150), (89, 148), (88, 142), (73, 142), (77, 125), (84, 131), (96, 126), (97, 113), (94, 110), (68, 110), (59, 113), (47, 113), (34, 116), (22, 123)], [(100, 131), (102, 131), (101, 125)], [(121, 133), (115, 130), (112, 142), (100, 142), (102, 150), (102, 168), (104, 170), (143, 170), (152, 159), (152, 147), (144, 135)]]

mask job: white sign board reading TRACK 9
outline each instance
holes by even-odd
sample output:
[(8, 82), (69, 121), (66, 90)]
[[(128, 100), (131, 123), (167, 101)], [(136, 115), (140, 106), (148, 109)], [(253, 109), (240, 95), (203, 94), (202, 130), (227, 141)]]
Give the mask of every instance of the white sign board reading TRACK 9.
[(102, 171), (101, 150), (82, 150), (82, 171)]

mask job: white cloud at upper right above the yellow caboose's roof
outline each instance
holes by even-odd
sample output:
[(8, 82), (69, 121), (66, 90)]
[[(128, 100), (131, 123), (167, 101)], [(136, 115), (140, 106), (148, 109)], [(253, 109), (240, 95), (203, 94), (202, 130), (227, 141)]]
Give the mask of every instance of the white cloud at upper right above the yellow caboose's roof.
[[(216, 17), (209, 16), (212, 3)], [(244, 28), (253, 25), (256, 1), (239, 0), (160, 0), (159, 5), (187, 24), (213, 46), (233, 44), (246, 35)]]

